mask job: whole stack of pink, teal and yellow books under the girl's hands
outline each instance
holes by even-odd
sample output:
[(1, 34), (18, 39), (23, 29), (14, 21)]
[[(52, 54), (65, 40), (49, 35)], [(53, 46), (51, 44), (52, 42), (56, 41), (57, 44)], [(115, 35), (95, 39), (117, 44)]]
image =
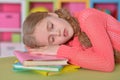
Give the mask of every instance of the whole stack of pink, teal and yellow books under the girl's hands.
[(33, 71), (45, 76), (76, 71), (79, 66), (68, 64), (68, 59), (49, 55), (33, 55), (28, 52), (14, 51), (17, 61), (14, 71)]

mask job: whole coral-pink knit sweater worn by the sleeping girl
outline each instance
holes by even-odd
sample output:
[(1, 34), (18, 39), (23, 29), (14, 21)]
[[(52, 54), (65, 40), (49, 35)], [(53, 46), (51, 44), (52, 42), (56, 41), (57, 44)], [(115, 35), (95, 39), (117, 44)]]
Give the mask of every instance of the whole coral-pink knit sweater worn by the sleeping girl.
[(75, 14), (80, 27), (91, 43), (85, 48), (74, 37), (69, 45), (61, 45), (57, 56), (66, 57), (71, 64), (85, 69), (111, 72), (114, 70), (113, 48), (120, 51), (120, 23), (112, 16), (95, 9), (85, 9)]

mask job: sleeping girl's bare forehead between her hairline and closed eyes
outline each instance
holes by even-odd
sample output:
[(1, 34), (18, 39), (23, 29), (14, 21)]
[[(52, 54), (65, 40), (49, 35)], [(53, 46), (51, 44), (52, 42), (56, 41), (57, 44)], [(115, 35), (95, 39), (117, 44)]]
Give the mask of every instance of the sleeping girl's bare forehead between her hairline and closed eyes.
[(48, 45), (48, 33), (47, 33), (47, 19), (43, 19), (37, 23), (35, 26), (34, 36), (39, 45), (44, 46)]

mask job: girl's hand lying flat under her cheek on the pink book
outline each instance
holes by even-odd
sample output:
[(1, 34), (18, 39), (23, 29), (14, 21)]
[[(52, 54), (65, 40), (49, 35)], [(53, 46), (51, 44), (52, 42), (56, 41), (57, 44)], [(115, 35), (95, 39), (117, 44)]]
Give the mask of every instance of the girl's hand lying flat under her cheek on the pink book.
[(31, 54), (57, 55), (59, 45), (45, 46), (40, 48), (27, 48)]

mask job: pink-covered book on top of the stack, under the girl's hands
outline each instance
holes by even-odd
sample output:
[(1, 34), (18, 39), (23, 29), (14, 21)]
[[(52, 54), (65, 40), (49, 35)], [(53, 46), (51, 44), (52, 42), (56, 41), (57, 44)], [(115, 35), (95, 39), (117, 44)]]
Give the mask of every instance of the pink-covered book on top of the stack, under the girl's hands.
[(50, 55), (33, 55), (28, 52), (14, 51), (15, 56), (24, 66), (68, 65), (68, 59)]

